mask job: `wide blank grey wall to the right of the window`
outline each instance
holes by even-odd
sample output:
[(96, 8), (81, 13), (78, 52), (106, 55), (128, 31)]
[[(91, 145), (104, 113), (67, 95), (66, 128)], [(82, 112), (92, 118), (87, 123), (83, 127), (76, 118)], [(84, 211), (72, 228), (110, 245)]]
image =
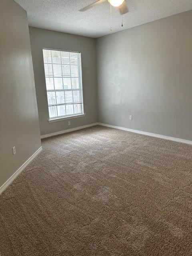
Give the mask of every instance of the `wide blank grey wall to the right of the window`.
[(99, 122), (192, 140), (192, 11), (98, 38), (97, 57)]

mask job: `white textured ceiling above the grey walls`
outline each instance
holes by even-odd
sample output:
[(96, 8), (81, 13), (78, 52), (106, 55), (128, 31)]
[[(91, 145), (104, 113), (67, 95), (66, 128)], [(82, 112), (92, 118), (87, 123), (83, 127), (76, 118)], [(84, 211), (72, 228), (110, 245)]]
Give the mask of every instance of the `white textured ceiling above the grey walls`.
[(107, 1), (86, 12), (78, 10), (95, 0), (15, 1), (28, 12), (30, 26), (94, 38), (192, 10), (192, 0), (127, 0), (129, 12), (124, 14), (123, 28), (119, 11), (112, 8), (111, 32)]

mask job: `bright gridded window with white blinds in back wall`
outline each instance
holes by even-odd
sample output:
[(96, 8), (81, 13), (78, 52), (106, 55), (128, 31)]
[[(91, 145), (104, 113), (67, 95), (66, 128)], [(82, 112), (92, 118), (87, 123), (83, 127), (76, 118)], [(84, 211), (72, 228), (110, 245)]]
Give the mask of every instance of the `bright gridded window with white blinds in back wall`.
[(43, 49), (49, 118), (84, 114), (80, 52)]

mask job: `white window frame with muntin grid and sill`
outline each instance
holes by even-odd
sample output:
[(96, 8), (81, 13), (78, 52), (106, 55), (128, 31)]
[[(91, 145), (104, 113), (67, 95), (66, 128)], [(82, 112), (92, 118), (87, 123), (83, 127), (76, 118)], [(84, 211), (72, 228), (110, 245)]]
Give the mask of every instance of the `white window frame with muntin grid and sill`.
[[(44, 66), (44, 78), (45, 78), (45, 84), (46, 84), (46, 78), (49, 78), (49, 76), (46, 76), (46, 71), (45, 71), (45, 64), (51, 64), (53, 65), (54, 63), (49, 63), (49, 62), (44, 62), (44, 56), (43, 56), (43, 50), (50, 50), (50, 51), (58, 51), (58, 52), (71, 52), (71, 53), (78, 53), (79, 54), (79, 76), (76, 77), (78, 78), (79, 80), (79, 88), (78, 89), (73, 89), (72, 88), (72, 77), (71, 76), (71, 65), (73, 64), (66, 64), (66, 65), (70, 65), (70, 76), (66, 76), (66, 78), (70, 78), (71, 79), (71, 89), (54, 89), (54, 90), (47, 90), (47, 86), (46, 86), (46, 98), (47, 98), (47, 106), (48, 106), (48, 114), (49, 114), (49, 107), (50, 106), (62, 106), (62, 105), (73, 105), (73, 109), (74, 109), (74, 105), (75, 104), (81, 104), (81, 113), (79, 114), (68, 114), (68, 115), (64, 115), (64, 116), (54, 116), (54, 117), (50, 117), (50, 114), (49, 114), (49, 118), (48, 118), (48, 122), (56, 122), (56, 121), (62, 121), (62, 120), (66, 120), (66, 119), (71, 119), (71, 118), (78, 118), (78, 117), (83, 117), (85, 116), (85, 110), (84, 110), (84, 100), (83, 100), (83, 82), (82, 82), (82, 58), (81, 58), (81, 52), (77, 52), (77, 51), (69, 51), (69, 50), (58, 50), (58, 49), (51, 49), (51, 48), (42, 48), (42, 58), (43, 58), (43, 66)], [(52, 57), (51, 57), (52, 58)], [(56, 63), (58, 64), (58, 63)], [(62, 62), (61, 64), (62, 67)], [(65, 64), (63, 64), (65, 65)], [(74, 64), (75, 66), (75, 64)], [(77, 64), (78, 66), (78, 64)], [(52, 71), (53, 71), (53, 67), (52, 67)], [(51, 77), (53, 78), (57, 78), (56, 76), (54, 76), (54, 71), (53, 71), (53, 76)], [(64, 78), (64, 76), (62, 76), (61, 78)], [(63, 80), (63, 79), (62, 79)], [(55, 87), (54, 87), (55, 88)], [(65, 96), (65, 92), (66, 91), (72, 91), (72, 94), (74, 91), (79, 91), (80, 92), (80, 102), (70, 102), (70, 103), (60, 103), (60, 104), (48, 104), (48, 92), (64, 92), (64, 96)], [(56, 95), (56, 94), (55, 94)], [(65, 108), (66, 109), (66, 108)], [(73, 111), (74, 112), (74, 111)], [(58, 110), (57, 110), (57, 114), (58, 114)]]

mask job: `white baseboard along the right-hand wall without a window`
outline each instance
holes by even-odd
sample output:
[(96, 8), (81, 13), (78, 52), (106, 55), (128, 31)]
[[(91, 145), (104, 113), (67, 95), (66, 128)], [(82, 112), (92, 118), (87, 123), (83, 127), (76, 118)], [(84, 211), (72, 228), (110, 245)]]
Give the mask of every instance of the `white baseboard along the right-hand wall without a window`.
[(133, 130), (133, 129), (124, 128), (124, 127), (120, 127), (120, 126), (114, 126), (114, 125), (110, 125), (110, 124), (98, 123), (98, 125), (106, 126), (106, 127), (110, 127), (110, 128), (115, 128), (115, 129), (119, 129), (119, 130), (124, 130), (124, 131), (128, 131), (128, 132), (134, 132), (134, 133), (138, 133), (138, 134), (143, 134), (143, 135), (147, 135), (147, 136), (152, 136), (152, 137), (156, 137), (156, 138), (160, 138), (160, 139), (164, 139), (164, 140), (172, 140), (172, 141), (176, 141), (176, 142), (181, 142), (181, 143), (192, 145), (192, 141), (191, 140), (184, 140), (184, 139), (180, 139), (180, 138), (174, 138), (174, 137), (160, 135), (160, 134), (155, 134), (155, 133), (151, 133), (151, 132), (143, 132), (143, 131)]

